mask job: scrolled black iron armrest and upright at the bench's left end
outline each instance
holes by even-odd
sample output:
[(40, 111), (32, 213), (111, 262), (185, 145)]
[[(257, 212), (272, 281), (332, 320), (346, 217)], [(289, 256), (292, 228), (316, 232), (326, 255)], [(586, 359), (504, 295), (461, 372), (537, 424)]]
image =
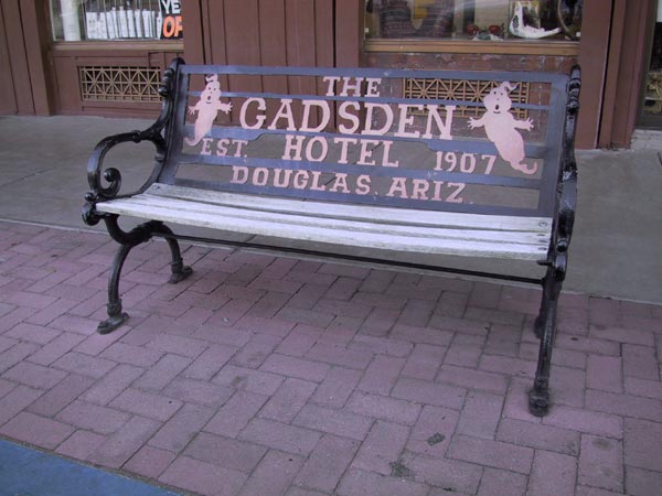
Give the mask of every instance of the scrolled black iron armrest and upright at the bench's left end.
[[(159, 85), (159, 95), (161, 96), (161, 114), (153, 125), (139, 131), (122, 132), (119, 134), (104, 138), (97, 143), (89, 160), (87, 161), (87, 183), (90, 191), (85, 195), (85, 207), (83, 209), (83, 220), (88, 225), (95, 225), (102, 218), (100, 214), (95, 212), (95, 204), (116, 197), (131, 196), (142, 193), (159, 176), (168, 154), (167, 136), (169, 132), (170, 118), (173, 111), (175, 75), (179, 65), (183, 64), (181, 58), (175, 58), (166, 69), (163, 79)], [(166, 134), (166, 136), (164, 136)], [(156, 148), (154, 168), (151, 174), (138, 191), (118, 195), (121, 187), (121, 173), (115, 168), (104, 170), (104, 159), (106, 153), (117, 144), (142, 141), (151, 141)], [(105, 186), (102, 176), (108, 184)]]

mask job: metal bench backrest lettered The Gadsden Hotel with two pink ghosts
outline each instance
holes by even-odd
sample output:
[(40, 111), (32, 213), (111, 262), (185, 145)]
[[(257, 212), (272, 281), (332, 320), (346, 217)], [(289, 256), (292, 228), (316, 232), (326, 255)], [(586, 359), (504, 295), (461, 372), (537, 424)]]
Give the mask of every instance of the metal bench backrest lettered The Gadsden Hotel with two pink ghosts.
[(551, 73), (182, 64), (159, 181), (552, 217), (573, 145), (567, 86)]

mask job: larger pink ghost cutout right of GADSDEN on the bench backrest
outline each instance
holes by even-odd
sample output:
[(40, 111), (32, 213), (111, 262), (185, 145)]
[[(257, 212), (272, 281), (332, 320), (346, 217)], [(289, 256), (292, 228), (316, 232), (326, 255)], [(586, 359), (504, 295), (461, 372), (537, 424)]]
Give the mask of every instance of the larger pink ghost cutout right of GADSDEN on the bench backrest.
[(483, 104), (488, 110), (480, 119), (469, 119), (471, 129), (484, 127), (488, 139), (494, 143), (496, 151), (503, 160), (511, 166), (524, 174), (535, 174), (537, 172), (537, 162), (528, 166), (522, 163), (524, 159), (524, 140), (517, 129), (531, 131), (533, 122), (531, 118), (526, 120), (516, 120), (510, 109), (513, 103), (508, 95), (515, 89), (517, 85), (511, 85), (510, 82), (503, 82), (496, 88), (493, 88), (483, 98)]

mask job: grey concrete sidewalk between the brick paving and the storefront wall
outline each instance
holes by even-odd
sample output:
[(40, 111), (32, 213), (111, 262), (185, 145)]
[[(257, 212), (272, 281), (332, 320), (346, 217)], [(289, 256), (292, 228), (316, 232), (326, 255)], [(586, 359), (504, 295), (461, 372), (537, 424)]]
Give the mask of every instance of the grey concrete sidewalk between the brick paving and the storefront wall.
[[(86, 164), (102, 138), (151, 121), (96, 117), (0, 117), (0, 218), (86, 228)], [(649, 139), (649, 145), (655, 141)], [(662, 150), (662, 142), (660, 142)], [(150, 143), (125, 144), (108, 154), (131, 191), (149, 175)], [(659, 151), (578, 152), (579, 204), (566, 291), (662, 303), (662, 165)], [(124, 191), (124, 190), (122, 190)], [(103, 230), (99, 227), (99, 230)], [(180, 229), (181, 230), (181, 229)], [(457, 260), (433, 262), (452, 266)], [(466, 268), (494, 263), (466, 259)], [(532, 274), (508, 262), (509, 272)]]

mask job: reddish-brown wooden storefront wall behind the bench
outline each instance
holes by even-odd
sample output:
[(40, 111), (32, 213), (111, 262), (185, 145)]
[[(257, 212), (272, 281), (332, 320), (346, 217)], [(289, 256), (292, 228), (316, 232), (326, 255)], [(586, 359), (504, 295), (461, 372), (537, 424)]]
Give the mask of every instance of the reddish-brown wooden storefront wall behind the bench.
[[(535, 2), (540, 28), (557, 25), (556, 3)], [(658, 95), (658, 73), (644, 80), (656, 0), (562, 0), (569, 34), (570, 29), (577, 31), (572, 24), (581, 7), (580, 36), (559, 34), (542, 41), (506, 34), (494, 41), (504, 35), (503, 25), (508, 31), (513, 3), (509, 0), (166, 2), (181, 3), (181, 40), (157, 35), (158, 22), (166, 18), (157, 7), (161, 3), (26, 0), (19, 8), (19, 2), (2, 1), (0, 61), (9, 69), (0, 76), (0, 114), (153, 115), (157, 80), (178, 54), (189, 63), (480, 71), (567, 71), (578, 61), (584, 68), (578, 143), (584, 148), (628, 145), (642, 109), (650, 117), (662, 107), (651, 100)], [(372, 12), (365, 12), (366, 3)], [(389, 4), (394, 9), (384, 12)], [(488, 7), (491, 10), (484, 10)], [(114, 8), (119, 23), (111, 36), (113, 17), (106, 12)], [(77, 23), (72, 21), (74, 11)], [(154, 12), (153, 23), (149, 18), (146, 24), (151, 15), (146, 11)], [(168, 22), (173, 34), (178, 32), (178, 21)], [(148, 31), (152, 24), (153, 32)], [(53, 32), (62, 41), (53, 41)], [(655, 118), (642, 122), (662, 128)]]

